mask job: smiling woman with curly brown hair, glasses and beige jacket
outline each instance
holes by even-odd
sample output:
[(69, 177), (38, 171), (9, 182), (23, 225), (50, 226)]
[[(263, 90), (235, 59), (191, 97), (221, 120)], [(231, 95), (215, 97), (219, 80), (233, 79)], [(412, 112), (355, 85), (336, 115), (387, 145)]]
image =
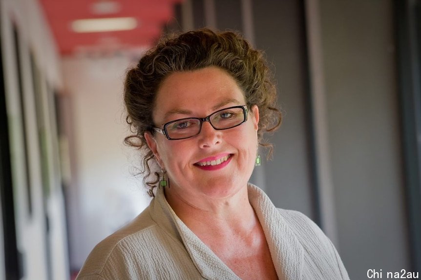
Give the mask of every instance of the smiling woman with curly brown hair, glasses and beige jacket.
[(263, 54), (241, 36), (163, 40), (128, 71), (125, 102), (155, 197), (78, 279), (349, 279), (316, 224), (248, 183), (280, 113)]

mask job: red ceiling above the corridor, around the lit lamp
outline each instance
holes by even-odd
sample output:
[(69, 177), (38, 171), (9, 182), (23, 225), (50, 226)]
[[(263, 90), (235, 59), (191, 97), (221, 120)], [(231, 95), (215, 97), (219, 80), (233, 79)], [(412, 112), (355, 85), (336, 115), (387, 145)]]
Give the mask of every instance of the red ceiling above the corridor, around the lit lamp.
[[(173, 19), (173, 7), (182, 0), (40, 0), (60, 53), (77, 50), (122, 50), (150, 47), (162, 27)], [(117, 7), (111, 13), (95, 13), (95, 5)], [(96, 6), (98, 7), (98, 6)], [(136, 28), (128, 31), (76, 33), (71, 24), (76, 19), (133, 17)]]

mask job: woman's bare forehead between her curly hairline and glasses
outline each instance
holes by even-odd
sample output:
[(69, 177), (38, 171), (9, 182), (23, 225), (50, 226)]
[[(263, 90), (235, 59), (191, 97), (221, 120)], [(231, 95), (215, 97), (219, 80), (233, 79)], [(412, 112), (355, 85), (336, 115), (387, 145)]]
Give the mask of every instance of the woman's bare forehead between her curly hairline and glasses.
[(232, 103), (245, 104), (234, 78), (220, 68), (207, 67), (168, 75), (157, 92), (153, 116), (163, 121), (168, 112), (206, 115), (219, 104)]

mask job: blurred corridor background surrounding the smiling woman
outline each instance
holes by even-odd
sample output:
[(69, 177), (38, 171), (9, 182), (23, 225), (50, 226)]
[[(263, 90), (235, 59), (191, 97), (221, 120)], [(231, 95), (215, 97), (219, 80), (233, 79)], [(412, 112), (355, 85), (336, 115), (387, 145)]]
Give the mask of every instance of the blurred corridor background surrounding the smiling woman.
[(167, 32), (239, 30), (283, 125), (252, 181), (351, 279), (421, 270), (420, 0), (0, 0), (0, 279), (73, 279), (149, 203), (122, 101)]

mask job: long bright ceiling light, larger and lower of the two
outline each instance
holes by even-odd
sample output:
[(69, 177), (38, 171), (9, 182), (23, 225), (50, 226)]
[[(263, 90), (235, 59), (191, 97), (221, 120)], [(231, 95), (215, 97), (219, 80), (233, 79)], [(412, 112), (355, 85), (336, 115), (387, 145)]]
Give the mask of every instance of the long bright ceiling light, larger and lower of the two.
[(77, 19), (72, 30), (77, 33), (122, 31), (136, 28), (135, 18)]

